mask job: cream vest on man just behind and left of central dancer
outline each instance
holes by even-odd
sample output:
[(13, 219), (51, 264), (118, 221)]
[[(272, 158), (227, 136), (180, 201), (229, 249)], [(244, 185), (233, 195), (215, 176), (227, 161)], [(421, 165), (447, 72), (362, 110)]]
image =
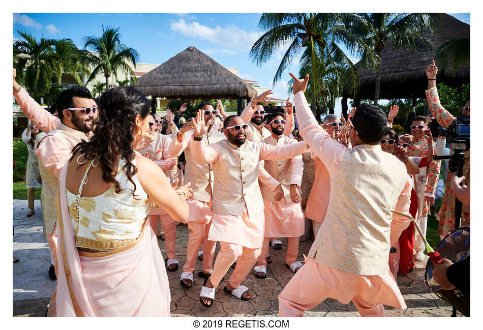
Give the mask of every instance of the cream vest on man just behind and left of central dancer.
[[(193, 134), (189, 135), (190, 143), (193, 139)], [(203, 143), (215, 143), (225, 139), (223, 133), (218, 132), (214, 128), (210, 129), (208, 133), (203, 135)], [(209, 202), (212, 200), (213, 187), (213, 168), (210, 164), (199, 164), (193, 160), (191, 156), (190, 144), (185, 151), (185, 182), (191, 182), (190, 188), (193, 189), (193, 199)]]

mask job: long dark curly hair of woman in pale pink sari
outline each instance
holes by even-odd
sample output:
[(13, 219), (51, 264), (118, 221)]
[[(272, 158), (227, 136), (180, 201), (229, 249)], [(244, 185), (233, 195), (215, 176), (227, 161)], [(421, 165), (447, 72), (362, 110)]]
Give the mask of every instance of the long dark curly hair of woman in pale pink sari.
[(124, 171), (134, 185), (134, 196), (136, 184), (132, 176), (137, 172), (132, 163), (134, 119), (138, 114), (143, 119), (149, 115), (149, 101), (133, 87), (118, 86), (107, 89), (99, 99), (98, 106), (99, 119), (94, 126), (94, 135), (90, 141), (78, 143), (72, 154), (79, 152), (87, 161), (99, 158), (102, 178), (115, 185), (117, 194), (122, 192), (115, 178), (117, 158), (125, 159)]

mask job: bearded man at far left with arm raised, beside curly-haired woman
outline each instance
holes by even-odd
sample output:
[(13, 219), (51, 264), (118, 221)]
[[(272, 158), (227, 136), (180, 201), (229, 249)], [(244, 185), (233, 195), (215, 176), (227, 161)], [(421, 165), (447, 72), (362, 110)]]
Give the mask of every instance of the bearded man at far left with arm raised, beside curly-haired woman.
[(72, 148), (81, 139), (88, 139), (86, 134), (93, 129), (98, 117), (97, 105), (87, 88), (76, 85), (66, 89), (58, 96), (56, 102), (57, 118), (28, 95), (15, 81), (16, 74), (16, 70), (13, 69), (13, 95), (15, 99), (27, 118), (46, 133), (38, 142), (36, 154), (39, 158), (40, 175), (42, 177), (43, 229), (51, 253), (49, 277), (55, 280), (55, 260), (53, 256), (56, 256), (56, 251), (52, 232), (57, 221), (55, 208), (57, 178), (65, 162), (70, 158)]

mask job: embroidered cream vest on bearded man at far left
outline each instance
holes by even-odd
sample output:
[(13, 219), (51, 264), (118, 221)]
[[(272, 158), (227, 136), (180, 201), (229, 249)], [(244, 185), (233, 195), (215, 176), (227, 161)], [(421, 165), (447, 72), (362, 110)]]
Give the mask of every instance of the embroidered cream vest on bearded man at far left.
[[(43, 139), (53, 135), (56, 138), (64, 140), (66, 147), (70, 149), (79, 143), (82, 138), (87, 140), (87, 137), (84, 133), (74, 130), (73, 128), (61, 123), (56, 130), (48, 132), (38, 142), (38, 146), (42, 146), (40, 143), (43, 141)], [(67, 162), (68, 160), (69, 159), (66, 159), (64, 162)], [(39, 168), (40, 176), (42, 177), (42, 191), (40, 194), (40, 199), (42, 201), (42, 216), (44, 218), (44, 234), (47, 235), (52, 233), (55, 222), (57, 221), (55, 193), (58, 189), (58, 179), (55, 177), (55, 175), (49, 172), (49, 170), (42, 163), (41, 159), (39, 159)]]

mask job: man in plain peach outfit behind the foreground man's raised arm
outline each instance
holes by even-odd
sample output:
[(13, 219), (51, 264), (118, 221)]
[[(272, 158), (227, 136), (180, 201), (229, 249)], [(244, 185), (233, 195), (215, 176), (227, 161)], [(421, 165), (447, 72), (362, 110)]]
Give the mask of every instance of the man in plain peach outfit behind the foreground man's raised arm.
[[(341, 119), (335, 114), (328, 114), (322, 120), (322, 128), (333, 139), (338, 139), (342, 128)], [(344, 133), (345, 134), (345, 133)], [(311, 154), (315, 165), (315, 179), (307, 206), (305, 208), (305, 217), (312, 220), (312, 228), (314, 236), (317, 237), (319, 228), (324, 221), (327, 213), (327, 205), (330, 197), (330, 176), (324, 163), (313, 152)]]

